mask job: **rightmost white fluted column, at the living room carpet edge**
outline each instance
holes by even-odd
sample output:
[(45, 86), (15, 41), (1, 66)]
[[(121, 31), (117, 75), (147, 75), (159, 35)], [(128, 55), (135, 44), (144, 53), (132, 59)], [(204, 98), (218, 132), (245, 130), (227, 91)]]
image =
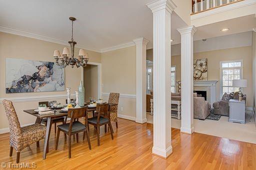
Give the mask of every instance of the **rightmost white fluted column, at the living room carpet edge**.
[(193, 34), (194, 26), (177, 29), (181, 34), (181, 128), (192, 134), (193, 125)]

